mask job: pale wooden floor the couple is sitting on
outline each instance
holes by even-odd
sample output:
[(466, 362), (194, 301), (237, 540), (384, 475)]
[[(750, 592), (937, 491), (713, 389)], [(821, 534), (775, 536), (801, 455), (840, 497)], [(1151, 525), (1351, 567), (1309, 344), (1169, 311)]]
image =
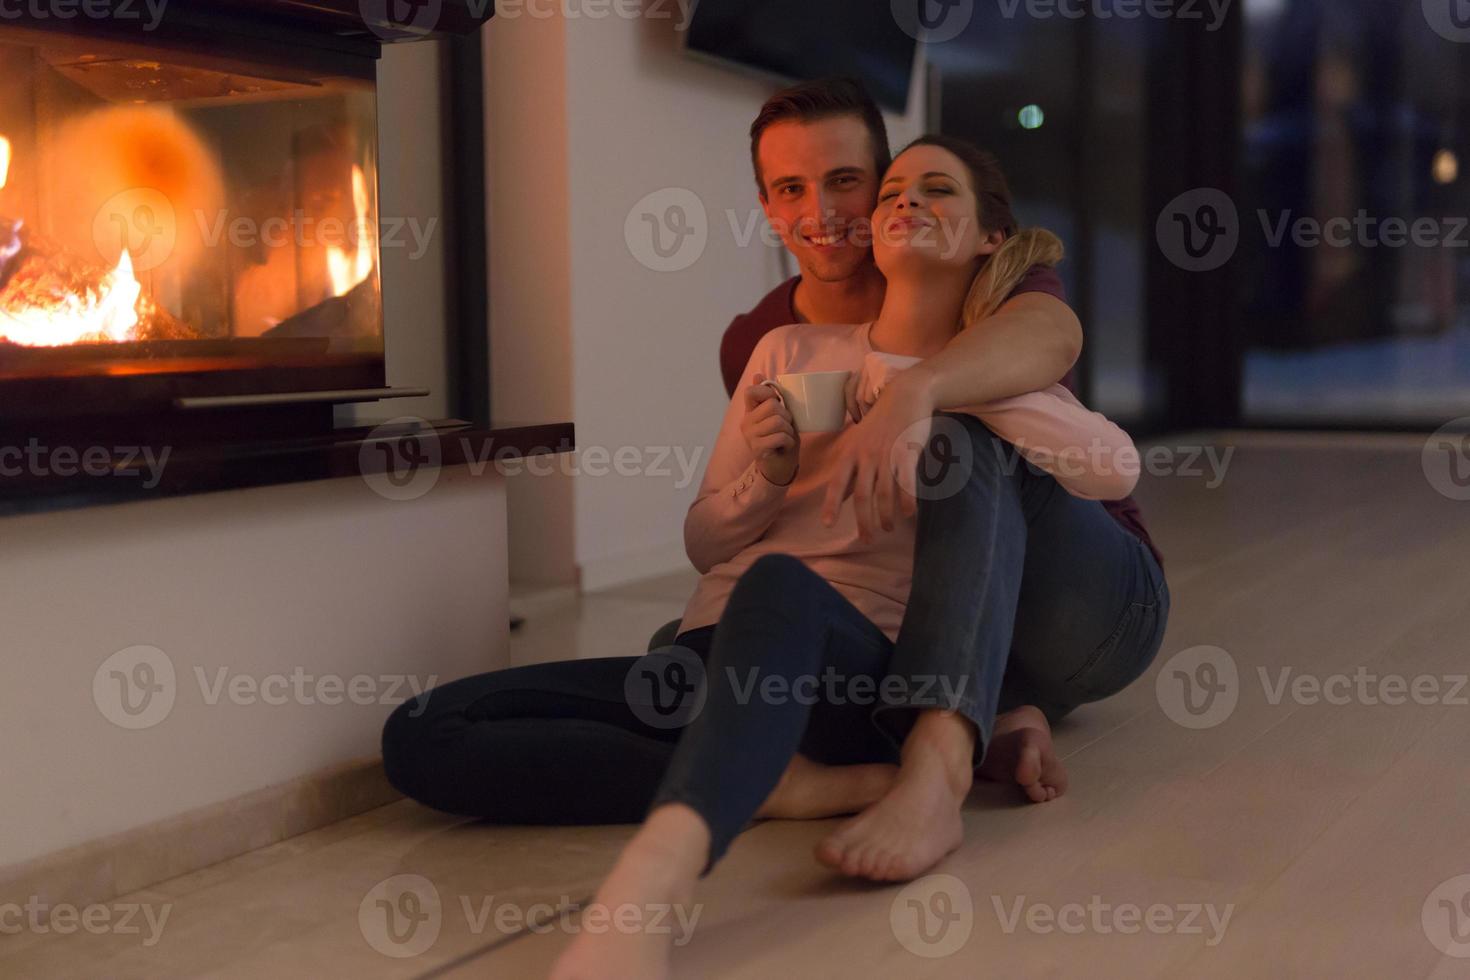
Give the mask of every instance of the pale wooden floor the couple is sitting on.
[[(1419, 438), (1232, 439), (1219, 486), (1141, 488), (1173, 617), (1141, 682), (1058, 727), (1066, 796), (979, 788), (966, 845), (906, 887), (817, 867), (829, 821), (760, 824), (703, 883), (678, 976), (1470, 977), (1470, 502)], [(637, 651), (688, 585), (542, 610), (517, 660)], [(1189, 714), (1201, 658), (1225, 701)], [(1332, 702), (1294, 696), (1314, 682)], [(631, 830), (400, 802), (115, 902), (168, 911), (151, 945), (141, 914), (0, 934), (0, 976), (544, 976), (579, 923), (557, 909)]]

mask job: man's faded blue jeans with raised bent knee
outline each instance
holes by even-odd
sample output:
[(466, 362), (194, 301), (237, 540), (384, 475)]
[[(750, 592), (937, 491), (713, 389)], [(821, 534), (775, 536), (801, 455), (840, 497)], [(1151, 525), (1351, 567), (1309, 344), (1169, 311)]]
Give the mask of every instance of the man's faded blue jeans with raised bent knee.
[[(1169, 585), (1098, 501), (1067, 494), (972, 416), (958, 492), (920, 501), (913, 588), (889, 673), (970, 677), (958, 710), (989, 743), (997, 713), (1050, 721), (1136, 680), (1163, 644)], [(913, 713), (889, 718), (898, 733)]]

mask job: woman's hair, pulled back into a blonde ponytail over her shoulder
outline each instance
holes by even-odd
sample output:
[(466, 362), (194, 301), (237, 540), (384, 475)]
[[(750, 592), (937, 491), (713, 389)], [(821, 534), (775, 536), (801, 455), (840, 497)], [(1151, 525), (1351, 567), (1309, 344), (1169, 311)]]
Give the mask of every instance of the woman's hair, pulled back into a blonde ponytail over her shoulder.
[(998, 231), (1005, 237), (1001, 247), (991, 253), (985, 264), (980, 266), (980, 272), (970, 287), (970, 294), (964, 300), (960, 329), (966, 329), (995, 313), (1032, 267), (1060, 263), (1064, 250), (1061, 239), (1045, 228), (1020, 228), (1016, 213), (1011, 210), (1010, 184), (1007, 184), (1005, 172), (1001, 170), (1000, 160), (995, 159), (994, 153), (980, 150), (964, 140), (932, 134), (919, 137), (898, 156), (922, 145), (948, 150), (960, 159), (970, 172), (970, 187), (975, 188), (975, 206), (979, 212), (980, 228), (986, 232)]

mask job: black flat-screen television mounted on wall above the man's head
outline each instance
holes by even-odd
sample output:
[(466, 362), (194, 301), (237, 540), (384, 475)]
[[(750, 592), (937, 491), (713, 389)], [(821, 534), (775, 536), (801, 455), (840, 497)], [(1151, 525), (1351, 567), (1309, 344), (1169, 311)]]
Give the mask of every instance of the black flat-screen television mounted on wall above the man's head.
[(882, 0), (697, 0), (691, 54), (781, 79), (860, 78), (878, 104), (908, 104), (917, 41)]

